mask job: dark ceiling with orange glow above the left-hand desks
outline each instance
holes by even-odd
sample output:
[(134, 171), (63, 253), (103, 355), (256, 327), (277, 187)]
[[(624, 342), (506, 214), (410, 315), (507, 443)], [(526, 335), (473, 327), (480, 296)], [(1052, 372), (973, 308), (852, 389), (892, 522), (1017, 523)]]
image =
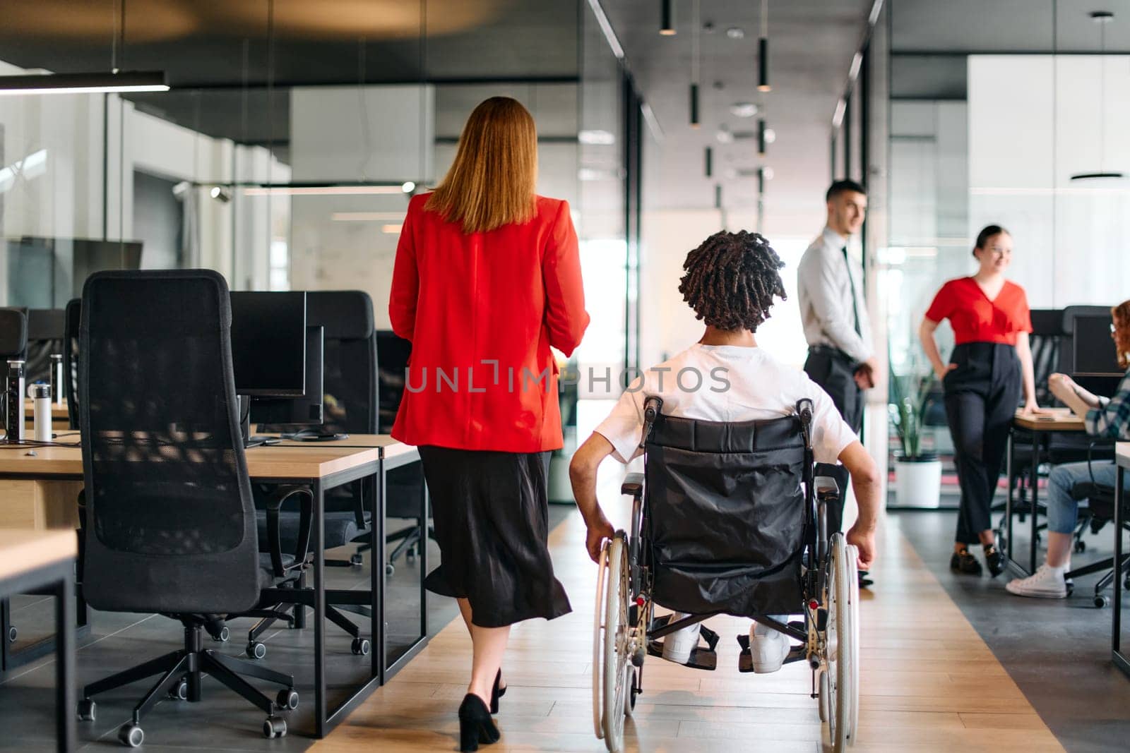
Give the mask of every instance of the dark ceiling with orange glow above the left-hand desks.
[[(285, 145), (289, 97), (280, 89), (290, 86), (575, 80), (580, 1), (124, 0), (118, 63), (165, 71), (172, 91), (129, 96), (144, 112), (214, 137)], [(108, 71), (120, 8), (0, 0), (0, 61)]]

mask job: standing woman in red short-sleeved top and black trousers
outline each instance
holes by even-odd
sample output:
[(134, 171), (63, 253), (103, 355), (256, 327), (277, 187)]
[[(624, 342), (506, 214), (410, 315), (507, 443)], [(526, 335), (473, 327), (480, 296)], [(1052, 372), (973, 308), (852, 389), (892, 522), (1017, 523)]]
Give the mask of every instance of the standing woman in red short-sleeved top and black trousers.
[[(990, 507), (1000, 479), (1008, 429), (1024, 387), (1026, 411), (1036, 411), (1028, 333), (1032, 317), (1024, 288), (1005, 279), (1012, 260), (1012, 236), (999, 225), (977, 235), (973, 256), (981, 269), (957, 278), (933, 297), (919, 338), (946, 394), (954, 438), (954, 463), (962, 488), (950, 570), (981, 575), (968, 545), (981, 543), (993, 577), (1005, 568), (997, 550)], [(933, 331), (942, 319), (954, 327), (954, 352), (941, 360)]]

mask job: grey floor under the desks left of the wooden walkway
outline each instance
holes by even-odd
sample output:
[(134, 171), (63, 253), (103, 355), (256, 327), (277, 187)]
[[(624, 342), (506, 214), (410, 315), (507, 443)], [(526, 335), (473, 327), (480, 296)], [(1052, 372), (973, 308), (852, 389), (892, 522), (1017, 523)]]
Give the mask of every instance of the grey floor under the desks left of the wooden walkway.
[[(549, 507), (550, 529), (574, 510), (572, 505)], [(395, 524), (390, 523), (390, 531)], [(330, 557), (344, 559), (353, 548), (331, 551)], [(440, 561), (435, 543), (428, 549), (429, 563)], [(359, 568), (327, 568), (327, 587), (364, 588), (368, 585), (368, 554)], [(389, 655), (395, 658), (407, 648), (418, 630), (419, 615), (419, 560), (397, 561), (395, 572), (386, 580), (391, 589), (388, 607)], [(34, 641), (53, 630), (53, 603), (50, 597), (17, 597), (14, 603), (14, 623), (19, 628), (16, 646)], [(428, 634), (434, 636), (459, 614), (451, 598), (429, 594), (427, 597)], [(306, 734), (313, 727), (313, 641), (310, 625), (305, 630), (289, 630), (276, 625), (262, 639), (267, 645), (266, 666), (294, 674), (302, 702), (289, 712), (288, 734), (281, 739), (262, 736), (263, 713), (218, 682), (206, 678), (200, 703), (163, 701), (142, 720), (145, 744), (139, 750), (186, 751), (305, 751), (313, 744)], [(365, 636), (368, 620), (347, 613)], [(206, 639), (206, 646), (233, 657), (244, 658), (246, 631), (252, 620), (231, 623), (231, 639), (226, 643)], [(332, 708), (348, 694), (351, 685), (365, 675), (368, 658), (350, 653), (350, 638), (337, 627), (327, 627), (327, 684), (328, 702)], [(114, 614), (94, 612), (90, 636), (79, 642), (77, 653), (78, 682), (93, 682), (129, 668), (149, 658), (182, 647), (180, 623), (160, 615)], [(118, 728), (129, 720), (133, 706), (156, 682), (141, 681), (127, 688), (107, 692), (96, 699), (95, 721), (78, 723), (80, 751), (122, 750)], [(253, 684), (273, 695), (275, 689), (253, 681)], [(374, 741), (376, 744), (377, 741)], [(54, 657), (47, 656), (19, 667), (0, 682), (0, 751), (24, 753), (53, 753), (54, 743)]]

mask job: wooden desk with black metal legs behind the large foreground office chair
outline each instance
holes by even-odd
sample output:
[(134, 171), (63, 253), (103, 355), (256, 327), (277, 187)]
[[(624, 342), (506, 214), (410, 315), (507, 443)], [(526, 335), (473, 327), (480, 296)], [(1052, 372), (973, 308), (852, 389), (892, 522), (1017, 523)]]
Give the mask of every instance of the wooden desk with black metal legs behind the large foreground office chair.
[[(75, 438), (77, 440), (77, 437)], [(33, 454), (34, 453), (34, 454)], [(420, 552), (420, 630), (418, 637), (393, 660), (386, 651), (384, 619), (384, 509), (385, 478), (395, 467), (419, 461), (415, 447), (402, 445), (385, 435), (353, 435), (337, 441), (281, 441), (278, 445), (249, 448), (247, 472), (258, 483), (306, 484), (314, 492), (314, 519), (311, 532), (314, 608), (314, 729), (318, 737), (336, 726), (373, 689), (394, 675), (427, 641), (424, 576), (427, 552)], [(333, 592), (336, 604), (364, 604), (372, 610), (373, 651), (365, 681), (350, 689), (348, 698), (328, 709), (325, 677), (324, 509), (325, 493), (342, 484), (373, 479), (376, 496), (371, 531), (371, 583), (368, 590)], [(71, 446), (0, 447), (0, 484), (23, 483), (23, 494), (0, 497), (0, 516), (31, 519), (35, 527), (52, 523), (73, 525), (77, 488), (82, 480), (81, 448)], [(64, 485), (66, 484), (66, 485)], [(31, 494), (27, 491), (31, 490)], [(60, 491), (64, 490), (64, 491)], [(421, 504), (425, 514), (426, 499)], [(0, 518), (3, 519), (3, 518)], [(375, 567), (372, 567), (375, 563)]]

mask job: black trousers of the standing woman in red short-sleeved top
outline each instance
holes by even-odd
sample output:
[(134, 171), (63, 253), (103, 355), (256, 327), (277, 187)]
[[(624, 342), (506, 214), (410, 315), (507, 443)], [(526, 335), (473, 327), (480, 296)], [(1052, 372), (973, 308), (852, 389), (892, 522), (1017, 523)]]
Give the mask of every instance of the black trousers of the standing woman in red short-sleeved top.
[(959, 544), (976, 544), (992, 528), (992, 497), (1000, 480), (1008, 430), (1020, 403), (1020, 361), (1011, 345), (970, 342), (954, 348), (957, 366), (942, 380), (954, 463), (962, 488)]

